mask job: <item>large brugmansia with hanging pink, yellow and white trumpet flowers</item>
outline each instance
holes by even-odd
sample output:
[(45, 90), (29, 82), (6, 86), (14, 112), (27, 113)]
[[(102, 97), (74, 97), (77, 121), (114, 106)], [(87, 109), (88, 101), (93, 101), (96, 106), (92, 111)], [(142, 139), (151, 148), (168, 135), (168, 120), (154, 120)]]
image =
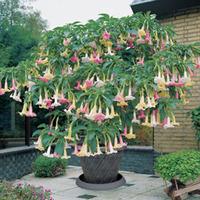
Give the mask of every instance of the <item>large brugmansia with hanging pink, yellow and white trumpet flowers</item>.
[(68, 158), (68, 144), (77, 156), (116, 153), (124, 137), (135, 138), (134, 123), (178, 125), (173, 111), (187, 103), (200, 49), (173, 38), (141, 13), (58, 27), (44, 34), (33, 61), (1, 71), (0, 94), (20, 102), (24, 94), (22, 116), (35, 117), (33, 105), (49, 111), (51, 122), (35, 132), (44, 155)]

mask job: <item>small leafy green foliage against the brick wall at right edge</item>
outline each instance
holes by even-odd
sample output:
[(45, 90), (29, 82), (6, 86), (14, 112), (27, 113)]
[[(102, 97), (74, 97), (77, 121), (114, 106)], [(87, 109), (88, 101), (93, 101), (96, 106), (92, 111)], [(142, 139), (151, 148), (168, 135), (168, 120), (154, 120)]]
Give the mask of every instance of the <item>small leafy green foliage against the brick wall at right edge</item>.
[(193, 128), (196, 130), (197, 140), (200, 141), (200, 107), (193, 109), (190, 114)]

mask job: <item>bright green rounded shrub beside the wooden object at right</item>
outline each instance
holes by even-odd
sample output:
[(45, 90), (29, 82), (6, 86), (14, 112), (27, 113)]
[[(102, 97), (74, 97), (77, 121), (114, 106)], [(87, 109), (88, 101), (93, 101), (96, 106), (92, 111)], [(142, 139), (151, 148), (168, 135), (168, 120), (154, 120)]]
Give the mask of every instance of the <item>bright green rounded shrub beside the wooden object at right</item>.
[(160, 156), (155, 170), (164, 180), (176, 178), (182, 183), (195, 180), (200, 177), (200, 152), (185, 150)]

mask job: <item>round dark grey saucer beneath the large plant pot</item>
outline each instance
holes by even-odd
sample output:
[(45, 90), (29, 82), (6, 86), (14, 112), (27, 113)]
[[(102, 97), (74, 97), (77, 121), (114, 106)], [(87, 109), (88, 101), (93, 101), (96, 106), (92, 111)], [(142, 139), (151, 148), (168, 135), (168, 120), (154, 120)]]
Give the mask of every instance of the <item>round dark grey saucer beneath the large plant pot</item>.
[(117, 187), (120, 187), (126, 183), (125, 178), (121, 175), (118, 174), (117, 180), (111, 183), (102, 183), (102, 184), (97, 184), (97, 183), (87, 183), (84, 178), (84, 174), (81, 174), (77, 179), (76, 179), (76, 185), (78, 185), (81, 188), (88, 189), (88, 190), (111, 190)]

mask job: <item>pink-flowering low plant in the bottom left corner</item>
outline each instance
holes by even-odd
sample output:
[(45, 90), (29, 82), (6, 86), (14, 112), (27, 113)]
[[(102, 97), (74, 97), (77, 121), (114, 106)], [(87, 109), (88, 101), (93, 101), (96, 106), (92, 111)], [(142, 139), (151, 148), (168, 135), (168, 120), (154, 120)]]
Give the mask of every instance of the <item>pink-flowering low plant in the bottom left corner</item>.
[(0, 182), (1, 200), (53, 200), (51, 191), (43, 187), (34, 187), (31, 185), (22, 185), (19, 183), (14, 186), (10, 182)]

